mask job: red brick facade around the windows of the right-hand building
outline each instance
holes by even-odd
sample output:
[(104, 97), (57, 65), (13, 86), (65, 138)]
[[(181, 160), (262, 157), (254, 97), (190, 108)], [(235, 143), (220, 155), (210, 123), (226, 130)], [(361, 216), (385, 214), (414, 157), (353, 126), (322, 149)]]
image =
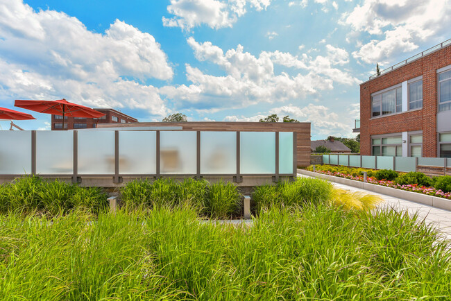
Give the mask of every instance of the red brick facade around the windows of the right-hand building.
[[(360, 85), (360, 153), (371, 155), (371, 135), (423, 130), (423, 157), (436, 157), (436, 70), (451, 65), (451, 46)], [(371, 119), (371, 94), (423, 76), (423, 109)]]

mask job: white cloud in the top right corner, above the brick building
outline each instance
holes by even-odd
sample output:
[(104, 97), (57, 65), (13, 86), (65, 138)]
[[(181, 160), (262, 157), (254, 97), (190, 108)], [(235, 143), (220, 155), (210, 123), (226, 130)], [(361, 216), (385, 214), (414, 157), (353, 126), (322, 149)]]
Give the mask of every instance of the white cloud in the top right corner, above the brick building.
[(370, 42), (352, 53), (355, 58), (366, 63), (381, 62), (418, 49), (420, 42), (448, 37), (451, 1), (365, 0), (352, 12), (343, 14), (341, 24), (357, 33), (372, 35)]

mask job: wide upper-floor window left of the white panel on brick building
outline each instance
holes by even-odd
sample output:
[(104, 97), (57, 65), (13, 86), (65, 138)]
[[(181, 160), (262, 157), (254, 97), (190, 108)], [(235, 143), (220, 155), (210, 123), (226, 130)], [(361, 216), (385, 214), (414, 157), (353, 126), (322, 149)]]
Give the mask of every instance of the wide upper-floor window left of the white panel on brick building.
[(402, 89), (397, 87), (371, 96), (371, 117), (402, 111)]

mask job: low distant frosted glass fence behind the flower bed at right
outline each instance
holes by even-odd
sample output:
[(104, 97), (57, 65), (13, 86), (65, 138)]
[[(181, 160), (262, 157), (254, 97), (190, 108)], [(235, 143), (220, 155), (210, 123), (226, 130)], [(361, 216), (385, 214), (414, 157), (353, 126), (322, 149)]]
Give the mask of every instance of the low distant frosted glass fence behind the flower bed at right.
[(450, 174), (451, 160), (432, 157), (389, 157), (359, 155), (323, 155), (323, 164), (363, 167), (365, 169), (391, 169), (393, 171), (420, 171), (436, 175)]

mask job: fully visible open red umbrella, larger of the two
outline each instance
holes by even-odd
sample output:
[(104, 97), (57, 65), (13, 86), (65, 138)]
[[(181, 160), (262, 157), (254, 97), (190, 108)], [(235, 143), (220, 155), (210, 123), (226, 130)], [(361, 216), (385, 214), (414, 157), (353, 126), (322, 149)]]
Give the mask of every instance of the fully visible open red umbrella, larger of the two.
[(84, 105), (77, 105), (76, 103), (69, 103), (65, 98), (59, 101), (15, 101), (16, 107), (23, 107), (24, 109), (54, 114), (62, 115), (62, 130), (65, 128), (65, 115), (70, 117), (83, 117), (83, 118), (100, 118), (105, 114), (91, 109), (90, 107), (85, 107)]

